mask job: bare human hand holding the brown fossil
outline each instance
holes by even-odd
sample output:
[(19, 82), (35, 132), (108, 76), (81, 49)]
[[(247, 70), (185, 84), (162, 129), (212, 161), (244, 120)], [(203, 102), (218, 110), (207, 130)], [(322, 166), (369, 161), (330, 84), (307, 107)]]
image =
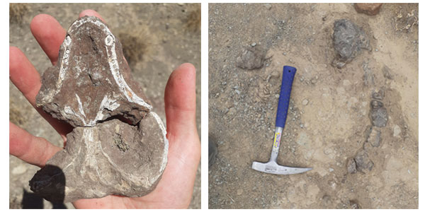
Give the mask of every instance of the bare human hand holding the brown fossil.
[[(101, 16), (86, 10), (82, 16)], [(103, 18), (101, 18), (103, 20)], [(52, 16), (40, 14), (30, 24), (31, 32), (53, 65), (66, 35)], [(40, 74), (17, 47), (9, 47), (9, 77), (31, 105), (64, 139), (72, 126), (54, 119), (35, 106), (41, 87)], [(169, 140), (168, 164), (157, 188), (146, 196), (130, 198), (105, 196), (101, 199), (79, 199), (75, 208), (187, 208), (191, 203), (193, 183), (200, 161), (200, 141), (196, 129), (196, 69), (181, 64), (174, 70), (165, 88), (166, 131)], [(9, 122), (9, 153), (27, 163), (43, 167), (62, 148), (46, 139), (33, 136)]]

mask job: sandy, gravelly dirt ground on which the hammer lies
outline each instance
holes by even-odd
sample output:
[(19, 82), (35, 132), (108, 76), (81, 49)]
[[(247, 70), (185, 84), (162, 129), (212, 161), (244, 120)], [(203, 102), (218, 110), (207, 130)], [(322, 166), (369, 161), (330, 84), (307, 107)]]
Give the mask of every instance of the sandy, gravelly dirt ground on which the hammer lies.
[[(418, 4), (384, 4), (377, 16), (352, 4), (209, 4), (209, 137), (218, 146), (209, 208), (418, 208), (418, 25), (406, 19), (417, 14)], [(363, 28), (372, 49), (337, 69), (340, 18)], [(263, 67), (240, 69), (251, 45), (267, 52)], [(278, 163), (314, 168), (300, 175), (251, 169), (270, 157), (284, 65), (297, 73)], [(373, 169), (349, 174), (374, 90), (385, 93), (388, 122), (368, 150)]]

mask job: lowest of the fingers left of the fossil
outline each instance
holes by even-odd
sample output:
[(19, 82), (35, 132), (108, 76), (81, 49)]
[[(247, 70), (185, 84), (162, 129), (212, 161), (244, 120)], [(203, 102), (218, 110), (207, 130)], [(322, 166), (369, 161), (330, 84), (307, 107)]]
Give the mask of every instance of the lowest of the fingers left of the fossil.
[(52, 145), (46, 139), (35, 137), (9, 122), (9, 153), (17, 158), (43, 167), (61, 148)]

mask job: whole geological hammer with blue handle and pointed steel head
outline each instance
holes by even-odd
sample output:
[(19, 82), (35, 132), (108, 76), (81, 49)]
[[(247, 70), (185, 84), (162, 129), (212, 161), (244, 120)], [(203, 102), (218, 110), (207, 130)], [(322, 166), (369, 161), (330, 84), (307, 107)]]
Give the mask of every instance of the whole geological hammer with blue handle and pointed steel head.
[(294, 81), (295, 72), (297, 72), (297, 69), (295, 69), (293, 66), (283, 66), (282, 85), (280, 86), (278, 112), (276, 114), (276, 129), (270, 160), (268, 160), (267, 163), (254, 161), (251, 166), (252, 169), (259, 172), (266, 172), (275, 175), (294, 175), (312, 170), (312, 168), (307, 167), (288, 167), (284, 165), (278, 165), (277, 162), (280, 137), (282, 136), (282, 131), (285, 127), (286, 115), (288, 114), (290, 90)]

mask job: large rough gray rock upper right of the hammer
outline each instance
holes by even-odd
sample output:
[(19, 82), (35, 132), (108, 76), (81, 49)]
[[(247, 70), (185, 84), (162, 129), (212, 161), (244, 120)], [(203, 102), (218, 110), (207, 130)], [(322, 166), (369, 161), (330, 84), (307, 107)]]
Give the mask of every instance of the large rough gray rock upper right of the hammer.
[(360, 54), (361, 49), (370, 49), (369, 39), (363, 29), (347, 19), (335, 21), (333, 42), (336, 57), (332, 65), (339, 69)]

